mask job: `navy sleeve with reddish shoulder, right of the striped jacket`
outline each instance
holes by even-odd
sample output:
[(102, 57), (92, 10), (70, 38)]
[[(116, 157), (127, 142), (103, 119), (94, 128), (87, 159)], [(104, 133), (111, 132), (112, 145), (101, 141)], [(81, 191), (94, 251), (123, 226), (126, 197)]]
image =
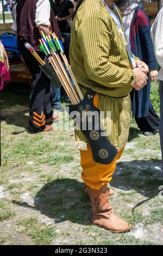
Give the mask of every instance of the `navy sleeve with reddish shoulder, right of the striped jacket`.
[(155, 58), (153, 42), (151, 39), (151, 26), (149, 25), (149, 20), (143, 11), (140, 11), (140, 14), (138, 15), (139, 31), (141, 33), (142, 43), (146, 47), (147, 64), (149, 66), (149, 70), (158, 70), (158, 64)]

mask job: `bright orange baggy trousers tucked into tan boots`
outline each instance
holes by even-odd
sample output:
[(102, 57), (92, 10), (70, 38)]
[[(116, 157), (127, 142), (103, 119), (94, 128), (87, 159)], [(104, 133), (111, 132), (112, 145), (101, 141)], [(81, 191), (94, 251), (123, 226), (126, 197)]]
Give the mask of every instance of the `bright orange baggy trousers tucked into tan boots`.
[[(93, 104), (98, 107), (98, 94), (95, 95)], [(123, 150), (124, 148), (117, 153), (110, 164), (96, 163), (92, 159), (89, 145), (87, 145), (87, 150), (80, 150), (80, 164), (83, 168), (82, 179), (85, 184), (93, 190), (99, 190), (104, 184), (110, 182), (116, 169), (116, 161), (120, 159)]]

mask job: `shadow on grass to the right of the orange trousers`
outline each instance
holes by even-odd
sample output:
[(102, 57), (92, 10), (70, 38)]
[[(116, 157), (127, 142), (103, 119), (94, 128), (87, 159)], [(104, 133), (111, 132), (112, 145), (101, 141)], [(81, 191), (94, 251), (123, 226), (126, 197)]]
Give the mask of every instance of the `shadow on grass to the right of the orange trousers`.
[[(155, 168), (156, 167), (156, 168)], [(111, 186), (123, 191), (135, 190), (147, 199), (137, 203), (133, 210), (158, 196), (159, 186), (163, 185), (161, 160), (134, 160), (119, 162)]]

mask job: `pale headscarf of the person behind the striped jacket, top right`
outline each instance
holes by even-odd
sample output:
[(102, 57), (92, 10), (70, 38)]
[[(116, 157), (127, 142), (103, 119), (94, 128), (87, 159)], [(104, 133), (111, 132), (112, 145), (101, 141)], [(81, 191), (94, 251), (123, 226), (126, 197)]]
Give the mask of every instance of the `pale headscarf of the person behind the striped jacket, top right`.
[(126, 4), (123, 5), (123, 7), (120, 7), (125, 31), (128, 29), (128, 27), (130, 27), (131, 20), (134, 16), (134, 11), (140, 2), (142, 2), (142, 0), (127, 0)]

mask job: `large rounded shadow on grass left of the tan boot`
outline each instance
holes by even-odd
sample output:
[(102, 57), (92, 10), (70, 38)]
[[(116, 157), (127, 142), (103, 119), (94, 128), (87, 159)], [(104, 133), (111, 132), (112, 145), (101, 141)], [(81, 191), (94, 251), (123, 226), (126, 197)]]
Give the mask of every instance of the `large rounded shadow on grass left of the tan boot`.
[(90, 225), (90, 201), (82, 190), (83, 183), (75, 179), (56, 179), (47, 183), (36, 194), (35, 206), (12, 201), (25, 208), (39, 210), (41, 214), (55, 218), (55, 222), (68, 220)]

